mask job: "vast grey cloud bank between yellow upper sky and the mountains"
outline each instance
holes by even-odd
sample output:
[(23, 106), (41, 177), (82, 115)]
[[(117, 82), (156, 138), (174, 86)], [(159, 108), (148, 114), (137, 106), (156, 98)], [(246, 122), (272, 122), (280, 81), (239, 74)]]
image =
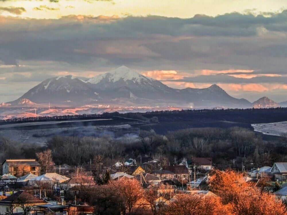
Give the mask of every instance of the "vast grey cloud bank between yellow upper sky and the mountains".
[[(0, 74), (8, 78), (9, 73), (24, 73), (28, 77), (25, 72), (31, 72), (32, 82), (34, 77), (39, 80), (36, 74), (91, 76), (125, 64), (173, 87), (218, 83), (238, 97), (280, 91), (284, 100), (286, 19), (287, 10), (268, 16), (250, 12), (188, 19), (0, 16), (0, 61), (14, 65), (0, 67)], [(12, 78), (4, 81), (12, 83)], [(256, 91), (249, 91), (253, 89)]]

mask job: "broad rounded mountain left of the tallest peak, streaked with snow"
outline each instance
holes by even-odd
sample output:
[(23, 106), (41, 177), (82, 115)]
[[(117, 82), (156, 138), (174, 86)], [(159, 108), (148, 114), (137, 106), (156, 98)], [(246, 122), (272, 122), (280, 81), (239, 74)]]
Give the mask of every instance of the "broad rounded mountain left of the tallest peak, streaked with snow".
[(67, 75), (46, 79), (19, 99), (29, 99), (35, 103), (69, 103), (98, 99), (98, 95), (85, 81)]

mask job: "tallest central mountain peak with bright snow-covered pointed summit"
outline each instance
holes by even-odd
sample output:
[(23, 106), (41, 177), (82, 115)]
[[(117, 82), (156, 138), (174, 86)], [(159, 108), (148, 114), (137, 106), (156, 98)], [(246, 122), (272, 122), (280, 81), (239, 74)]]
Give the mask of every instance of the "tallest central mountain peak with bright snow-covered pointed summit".
[(176, 91), (125, 66), (90, 78), (87, 82), (102, 98), (170, 99)]

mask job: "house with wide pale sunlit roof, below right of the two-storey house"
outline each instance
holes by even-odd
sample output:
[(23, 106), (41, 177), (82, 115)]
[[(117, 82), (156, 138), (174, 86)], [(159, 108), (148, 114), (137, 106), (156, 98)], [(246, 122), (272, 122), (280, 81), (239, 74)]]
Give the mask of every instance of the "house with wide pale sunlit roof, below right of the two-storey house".
[(57, 173), (46, 173), (44, 175), (40, 175), (36, 178), (32, 178), (28, 181), (29, 185), (37, 185), (37, 183), (47, 183), (50, 185), (59, 184), (61, 182), (67, 181), (67, 178), (64, 175), (59, 175)]

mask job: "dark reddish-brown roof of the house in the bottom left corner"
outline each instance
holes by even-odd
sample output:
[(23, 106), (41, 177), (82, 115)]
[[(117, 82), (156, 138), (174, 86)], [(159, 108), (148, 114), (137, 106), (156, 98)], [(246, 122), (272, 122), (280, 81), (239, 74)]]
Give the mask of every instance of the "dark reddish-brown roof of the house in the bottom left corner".
[(0, 204), (13, 204), (13, 202), (17, 202), (18, 200), (21, 201), (21, 198), (23, 200), (25, 199), (25, 202), (27, 204), (46, 204), (44, 200), (28, 193), (27, 191), (20, 190), (11, 196), (8, 196), (7, 198), (0, 201)]

